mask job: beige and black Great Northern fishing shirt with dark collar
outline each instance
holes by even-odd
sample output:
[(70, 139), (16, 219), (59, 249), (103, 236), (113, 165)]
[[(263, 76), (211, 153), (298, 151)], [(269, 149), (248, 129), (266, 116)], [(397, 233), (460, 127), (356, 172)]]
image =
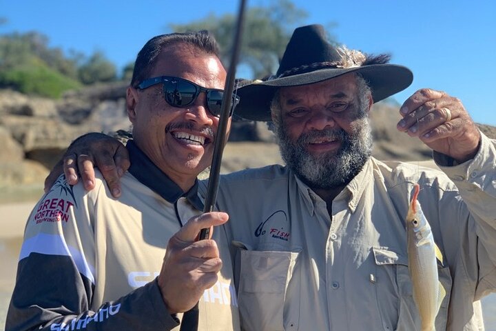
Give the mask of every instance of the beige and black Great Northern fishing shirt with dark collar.
[[(156, 277), (167, 241), (203, 210), (195, 185), (183, 192), (133, 142), (132, 167), (114, 199), (61, 176), (25, 228), (6, 330), (179, 330)], [(199, 303), (198, 330), (239, 330), (238, 302), (223, 228), (214, 239), (224, 261)]]

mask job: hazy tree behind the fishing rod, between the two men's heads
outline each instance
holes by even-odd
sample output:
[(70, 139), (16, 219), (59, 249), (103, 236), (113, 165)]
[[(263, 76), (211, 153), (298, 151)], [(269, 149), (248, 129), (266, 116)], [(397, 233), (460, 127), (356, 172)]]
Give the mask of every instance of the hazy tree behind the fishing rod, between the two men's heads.
[[(275, 72), (293, 29), (307, 16), (307, 12), (296, 8), (290, 0), (273, 0), (267, 7), (248, 8), (239, 64), (248, 66), (256, 78)], [(209, 30), (221, 47), (220, 57), (226, 66), (229, 65), (235, 27), (236, 16), (233, 14), (222, 17), (209, 14), (205, 19), (191, 23), (169, 25), (175, 32)]]

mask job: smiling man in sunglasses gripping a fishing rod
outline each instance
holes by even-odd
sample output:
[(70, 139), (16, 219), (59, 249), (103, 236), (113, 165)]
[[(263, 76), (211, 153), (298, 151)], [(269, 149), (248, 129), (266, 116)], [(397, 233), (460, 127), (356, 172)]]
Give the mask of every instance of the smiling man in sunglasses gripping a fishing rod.
[(99, 172), (88, 192), (56, 180), (25, 228), (6, 330), (192, 330), (198, 310), (200, 330), (239, 329), (225, 231), (195, 241), (228, 218), (201, 214), (196, 179), (225, 139), (225, 79), (207, 32), (145, 44), (127, 88), (134, 140), (121, 197)]

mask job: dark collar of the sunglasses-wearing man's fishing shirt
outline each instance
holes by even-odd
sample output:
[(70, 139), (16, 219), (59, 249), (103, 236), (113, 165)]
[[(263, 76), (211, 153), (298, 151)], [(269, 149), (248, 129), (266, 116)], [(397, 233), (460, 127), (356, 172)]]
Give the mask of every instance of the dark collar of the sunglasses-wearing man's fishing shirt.
[(130, 154), (131, 166), (129, 168), (132, 174), (140, 183), (156, 192), (169, 203), (176, 203), (180, 197), (185, 197), (189, 203), (194, 205), (198, 210), (203, 210), (203, 202), (198, 197), (198, 179), (192, 188), (184, 192), (179, 185), (174, 183), (167, 174), (160, 170), (147, 155), (136, 146), (134, 141), (130, 140), (126, 144), (127, 151)]

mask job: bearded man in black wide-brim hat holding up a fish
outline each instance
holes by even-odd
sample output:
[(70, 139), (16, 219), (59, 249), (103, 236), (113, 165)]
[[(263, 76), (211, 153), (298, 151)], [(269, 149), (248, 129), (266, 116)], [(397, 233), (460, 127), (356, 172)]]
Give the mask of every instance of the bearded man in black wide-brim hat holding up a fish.
[[(220, 181), (245, 330), (484, 328), (479, 299), (496, 288), (496, 141), (458, 99), (422, 89), (403, 103), (397, 130), (432, 148), (441, 171), (371, 157), (371, 106), (413, 79), (388, 61), (304, 26), (274, 77), (238, 89), (237, 114), (272, 120), (287, 163)], [(409, 273), (405, 217), (417, 183), (440, 249), (435, 322), (421, 319)]]

